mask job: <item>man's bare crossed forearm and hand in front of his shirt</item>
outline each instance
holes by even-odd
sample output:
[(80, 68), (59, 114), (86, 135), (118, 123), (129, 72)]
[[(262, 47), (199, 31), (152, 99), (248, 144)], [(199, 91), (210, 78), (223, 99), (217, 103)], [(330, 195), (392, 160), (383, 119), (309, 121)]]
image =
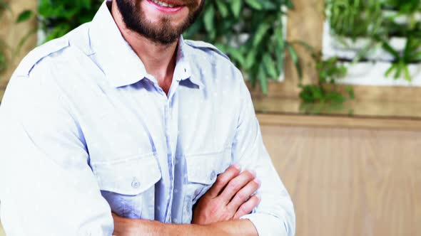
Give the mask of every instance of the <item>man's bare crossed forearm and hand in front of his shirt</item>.
[(259, 186), (255, 173), (240, 173), (240, 166), (230, 166), (198, 201), (192, 225), (133, 220), (113, 213), (113, 235), (258, 235), (250, 220), (239, 219), (260, 203), (260, 196), (252, 195)]

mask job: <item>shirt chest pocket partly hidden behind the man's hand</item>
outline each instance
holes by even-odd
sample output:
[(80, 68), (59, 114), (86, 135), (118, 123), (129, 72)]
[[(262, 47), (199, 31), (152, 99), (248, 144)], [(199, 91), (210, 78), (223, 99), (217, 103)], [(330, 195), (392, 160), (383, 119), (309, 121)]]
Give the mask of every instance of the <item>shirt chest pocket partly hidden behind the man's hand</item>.
[(218, 174), (225, 172), (231, 163), (231, 148), (211, 154), (186, 155), (186, 195), (183, 206), (183, 223), (190, 223), (192, 208), (199, 198), (215, 183)]

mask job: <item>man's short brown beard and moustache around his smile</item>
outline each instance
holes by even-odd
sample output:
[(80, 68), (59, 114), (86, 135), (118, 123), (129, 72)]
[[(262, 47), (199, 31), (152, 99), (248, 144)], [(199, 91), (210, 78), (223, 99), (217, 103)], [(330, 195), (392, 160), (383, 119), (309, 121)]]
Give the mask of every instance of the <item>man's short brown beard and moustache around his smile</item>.
[(205, 0), (201, 0), (200, 4), (196, 0), (181, 0), (181, 4), (188, 7), (186, 19), (178, 26), (173, 26), (171, 17), (163, 16), (159, 25), (156, 26), (158, 23), (148, 21), (141, 9), (141, 1), (147, 0), (116, 0), (116, 3), (128, 29), (161, 45), (176, 42), (181, 34), (196, 21), (205, 5)]

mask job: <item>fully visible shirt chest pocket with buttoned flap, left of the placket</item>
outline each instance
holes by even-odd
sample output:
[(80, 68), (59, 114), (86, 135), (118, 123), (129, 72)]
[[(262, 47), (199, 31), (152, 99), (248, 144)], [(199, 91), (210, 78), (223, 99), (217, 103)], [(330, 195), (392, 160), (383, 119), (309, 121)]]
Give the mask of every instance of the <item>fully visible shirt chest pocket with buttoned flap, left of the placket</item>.
[(155, 184), (161, 179), (154, 153), (91, 166), (114, 213), (124, 218), (154, 219)]

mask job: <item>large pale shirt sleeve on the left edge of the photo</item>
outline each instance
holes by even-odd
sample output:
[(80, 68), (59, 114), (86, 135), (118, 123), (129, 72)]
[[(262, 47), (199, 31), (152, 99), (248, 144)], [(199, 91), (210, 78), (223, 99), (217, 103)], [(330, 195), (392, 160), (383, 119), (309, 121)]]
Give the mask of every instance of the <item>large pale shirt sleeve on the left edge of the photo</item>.
[(51, 76), (40, 69), (12, 78), (0, 107), (4, 230), (111, 235), (111, 209), (88, 165), (83, 134)]

